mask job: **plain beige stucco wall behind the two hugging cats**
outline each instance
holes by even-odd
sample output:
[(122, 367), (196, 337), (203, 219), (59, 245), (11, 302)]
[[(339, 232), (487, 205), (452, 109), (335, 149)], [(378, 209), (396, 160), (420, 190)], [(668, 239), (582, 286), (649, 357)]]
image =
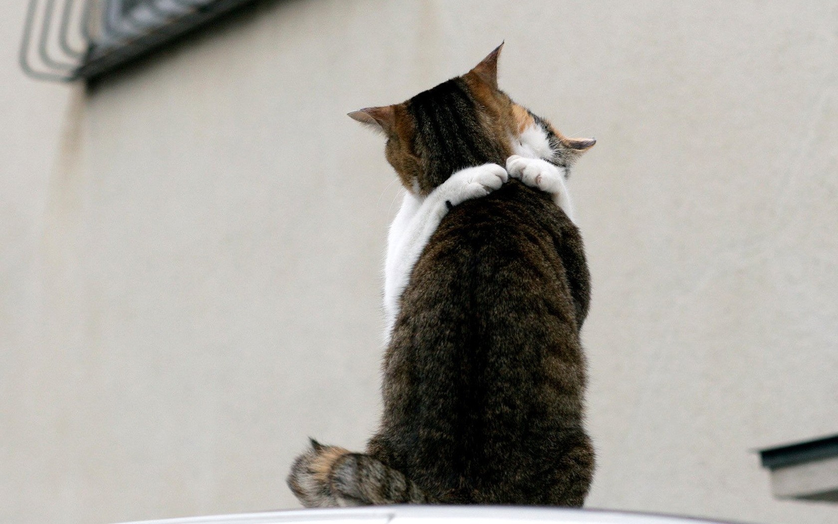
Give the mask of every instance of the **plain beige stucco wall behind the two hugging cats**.
[[(22, 3), (21, 3), (22, 4)], [(0, 521), (295, 506), (379, 409), (395, 179), (344, 113), (467, 70), (597, 147), (589, 506), (834, 522), (754, 448), (838, 433), (830, 3), (262, 2), (91, 86), (0, 16)]]

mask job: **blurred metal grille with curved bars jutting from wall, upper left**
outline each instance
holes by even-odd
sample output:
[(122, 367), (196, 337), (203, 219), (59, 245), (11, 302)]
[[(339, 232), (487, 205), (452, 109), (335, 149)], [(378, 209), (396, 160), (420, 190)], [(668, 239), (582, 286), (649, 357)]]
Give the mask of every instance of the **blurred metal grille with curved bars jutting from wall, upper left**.
[(252, 0), (29, 0), (20, 65), (41, 80), (89, 79)]

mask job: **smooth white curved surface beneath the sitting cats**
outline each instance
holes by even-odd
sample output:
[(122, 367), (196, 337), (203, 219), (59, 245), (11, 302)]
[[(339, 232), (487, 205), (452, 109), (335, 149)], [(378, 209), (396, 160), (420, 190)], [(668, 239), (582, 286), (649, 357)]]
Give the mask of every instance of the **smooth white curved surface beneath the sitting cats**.
[[(195, 516), (142, 524), (722, 524), (623, 511), (512, 506), (366, 506)], [(138, 524), (138, 523), (136, 523)]]

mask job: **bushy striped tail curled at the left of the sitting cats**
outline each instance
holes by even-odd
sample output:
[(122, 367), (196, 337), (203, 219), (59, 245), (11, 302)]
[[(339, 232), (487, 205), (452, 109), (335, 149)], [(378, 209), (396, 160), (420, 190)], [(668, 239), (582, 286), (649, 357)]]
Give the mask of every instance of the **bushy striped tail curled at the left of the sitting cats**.
[(288, 487), (306, 507), (433, 504), (435, 499), (401, 472), (370, 455), (324, 446), (312, 447), (294, 460)]

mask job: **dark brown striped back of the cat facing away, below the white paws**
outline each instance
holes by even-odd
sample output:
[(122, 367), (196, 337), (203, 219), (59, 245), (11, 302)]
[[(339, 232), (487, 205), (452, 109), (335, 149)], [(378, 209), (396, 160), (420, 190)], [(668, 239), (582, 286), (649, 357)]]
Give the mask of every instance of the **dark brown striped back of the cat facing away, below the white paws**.
[(583, 438), (587, 285), (579, 232), (547, 195), (512, 181), (451, 210), (402, 294), (371, 449), (454, 501), (529, 499), (510, 491), (538, 482), (522, 472)]

